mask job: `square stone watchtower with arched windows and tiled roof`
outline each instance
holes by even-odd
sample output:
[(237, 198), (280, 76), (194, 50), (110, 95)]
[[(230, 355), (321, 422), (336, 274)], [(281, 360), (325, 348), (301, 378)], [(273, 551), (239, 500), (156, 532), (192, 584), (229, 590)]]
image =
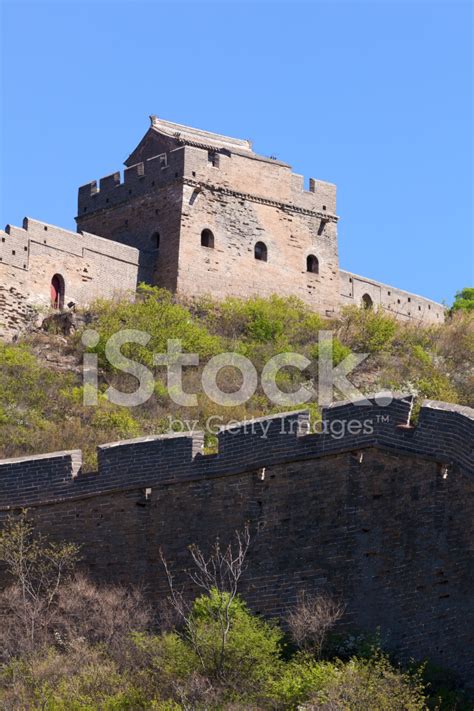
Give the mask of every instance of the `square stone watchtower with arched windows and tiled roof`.
[(120, 173), (79, 189), (77, 226), (136, 247), (139, 279), (180, 294), (340, 302), (336, 187), (247, 140), (151, 117)]

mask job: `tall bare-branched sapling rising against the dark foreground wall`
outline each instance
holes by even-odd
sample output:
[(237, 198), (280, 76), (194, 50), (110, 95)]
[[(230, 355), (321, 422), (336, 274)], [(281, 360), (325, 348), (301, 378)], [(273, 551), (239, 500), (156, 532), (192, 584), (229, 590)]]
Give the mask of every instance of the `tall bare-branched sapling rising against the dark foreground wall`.
[[(250, 528), (246, 524), (243, 531), (235, 531), (234, 544), (229, 543), (222, 548), (217, 537), (208, 556), (195, 544), (189, 547), (194, 567), (185, 572), (198, 588), (213, 596), (217, 603), (212, 608), (211, 614), (219, 629), (219, 649), (213, 665), (218, 676), (224, 666), (226, 645), (231, 629), (231, 608), (239, 589), (240, 579), (246, 569), (249, 546)], [(169, 602), (181, 619), (203, 670), (209, 671), (205, 661), (203, 640), (199, 637), (199, 628), (193, 616), (192, 603), (186, 599), (183, 590), (177, 589), (162, 550), (160, 555), (168, 579)]]

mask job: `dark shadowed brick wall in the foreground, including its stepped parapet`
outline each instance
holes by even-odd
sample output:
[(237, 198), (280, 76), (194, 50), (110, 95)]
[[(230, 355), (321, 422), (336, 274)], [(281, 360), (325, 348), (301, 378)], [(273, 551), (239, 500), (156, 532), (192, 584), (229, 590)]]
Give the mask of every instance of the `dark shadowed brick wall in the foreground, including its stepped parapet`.
[(186, 547), (227, 540), (250, 522), (242, 593), (282, 615), (301, 590), (347, 603), (343, 627), (375, 631), (408, 658), (474, 678), (474, 411), (411, 398), (340, 403), (325, 433), (304, 412), (242, 423), (202, 454), (202, 434), (148, 437), (0, 462), (0, 516), (27, 506), (38, 528), (82, 545), (99, 580), (165, 594), (159, 547), (178, 580)]

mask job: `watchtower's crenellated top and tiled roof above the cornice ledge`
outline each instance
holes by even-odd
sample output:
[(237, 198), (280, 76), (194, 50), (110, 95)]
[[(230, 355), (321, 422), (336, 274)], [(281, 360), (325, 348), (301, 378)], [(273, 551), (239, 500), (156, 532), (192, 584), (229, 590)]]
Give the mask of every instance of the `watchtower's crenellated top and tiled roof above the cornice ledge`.
[(302, 175), (256, 153), (249, 140), (231, 138), (151, 116), (151, 125), (125, 161), (123, 181), (112, 173), (79, 188), (78, 221), (99, 210), (187, 181), (271, 200), (285, 208), (321, 213), (336, 221), (336, 186)]

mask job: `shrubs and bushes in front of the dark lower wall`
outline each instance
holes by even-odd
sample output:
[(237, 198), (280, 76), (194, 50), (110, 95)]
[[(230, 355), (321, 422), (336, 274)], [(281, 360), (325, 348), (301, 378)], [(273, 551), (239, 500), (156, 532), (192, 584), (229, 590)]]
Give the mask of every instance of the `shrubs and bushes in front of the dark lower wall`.
[[(446, 672), (403, 669), (376, 640), (336, 634), (344, 607), (328, 597), (302, 596), (286, 633), (254, 615), (235, 583), (245, 571), (245, 546), (216, 543), (210, 558), (191, 550), (192, 574), (204, 589), (185, 599), (171, 584), (157, 614), (139, 591), (99, 587), (78, 574), (80, 551), (35, 538), (26, 514), (8, 519), (0, 533), (0, 562), (10, 576), (0, 591), (1, 708), (471, 708)], [(209, 560), (216, 568), (206, 568)]]

